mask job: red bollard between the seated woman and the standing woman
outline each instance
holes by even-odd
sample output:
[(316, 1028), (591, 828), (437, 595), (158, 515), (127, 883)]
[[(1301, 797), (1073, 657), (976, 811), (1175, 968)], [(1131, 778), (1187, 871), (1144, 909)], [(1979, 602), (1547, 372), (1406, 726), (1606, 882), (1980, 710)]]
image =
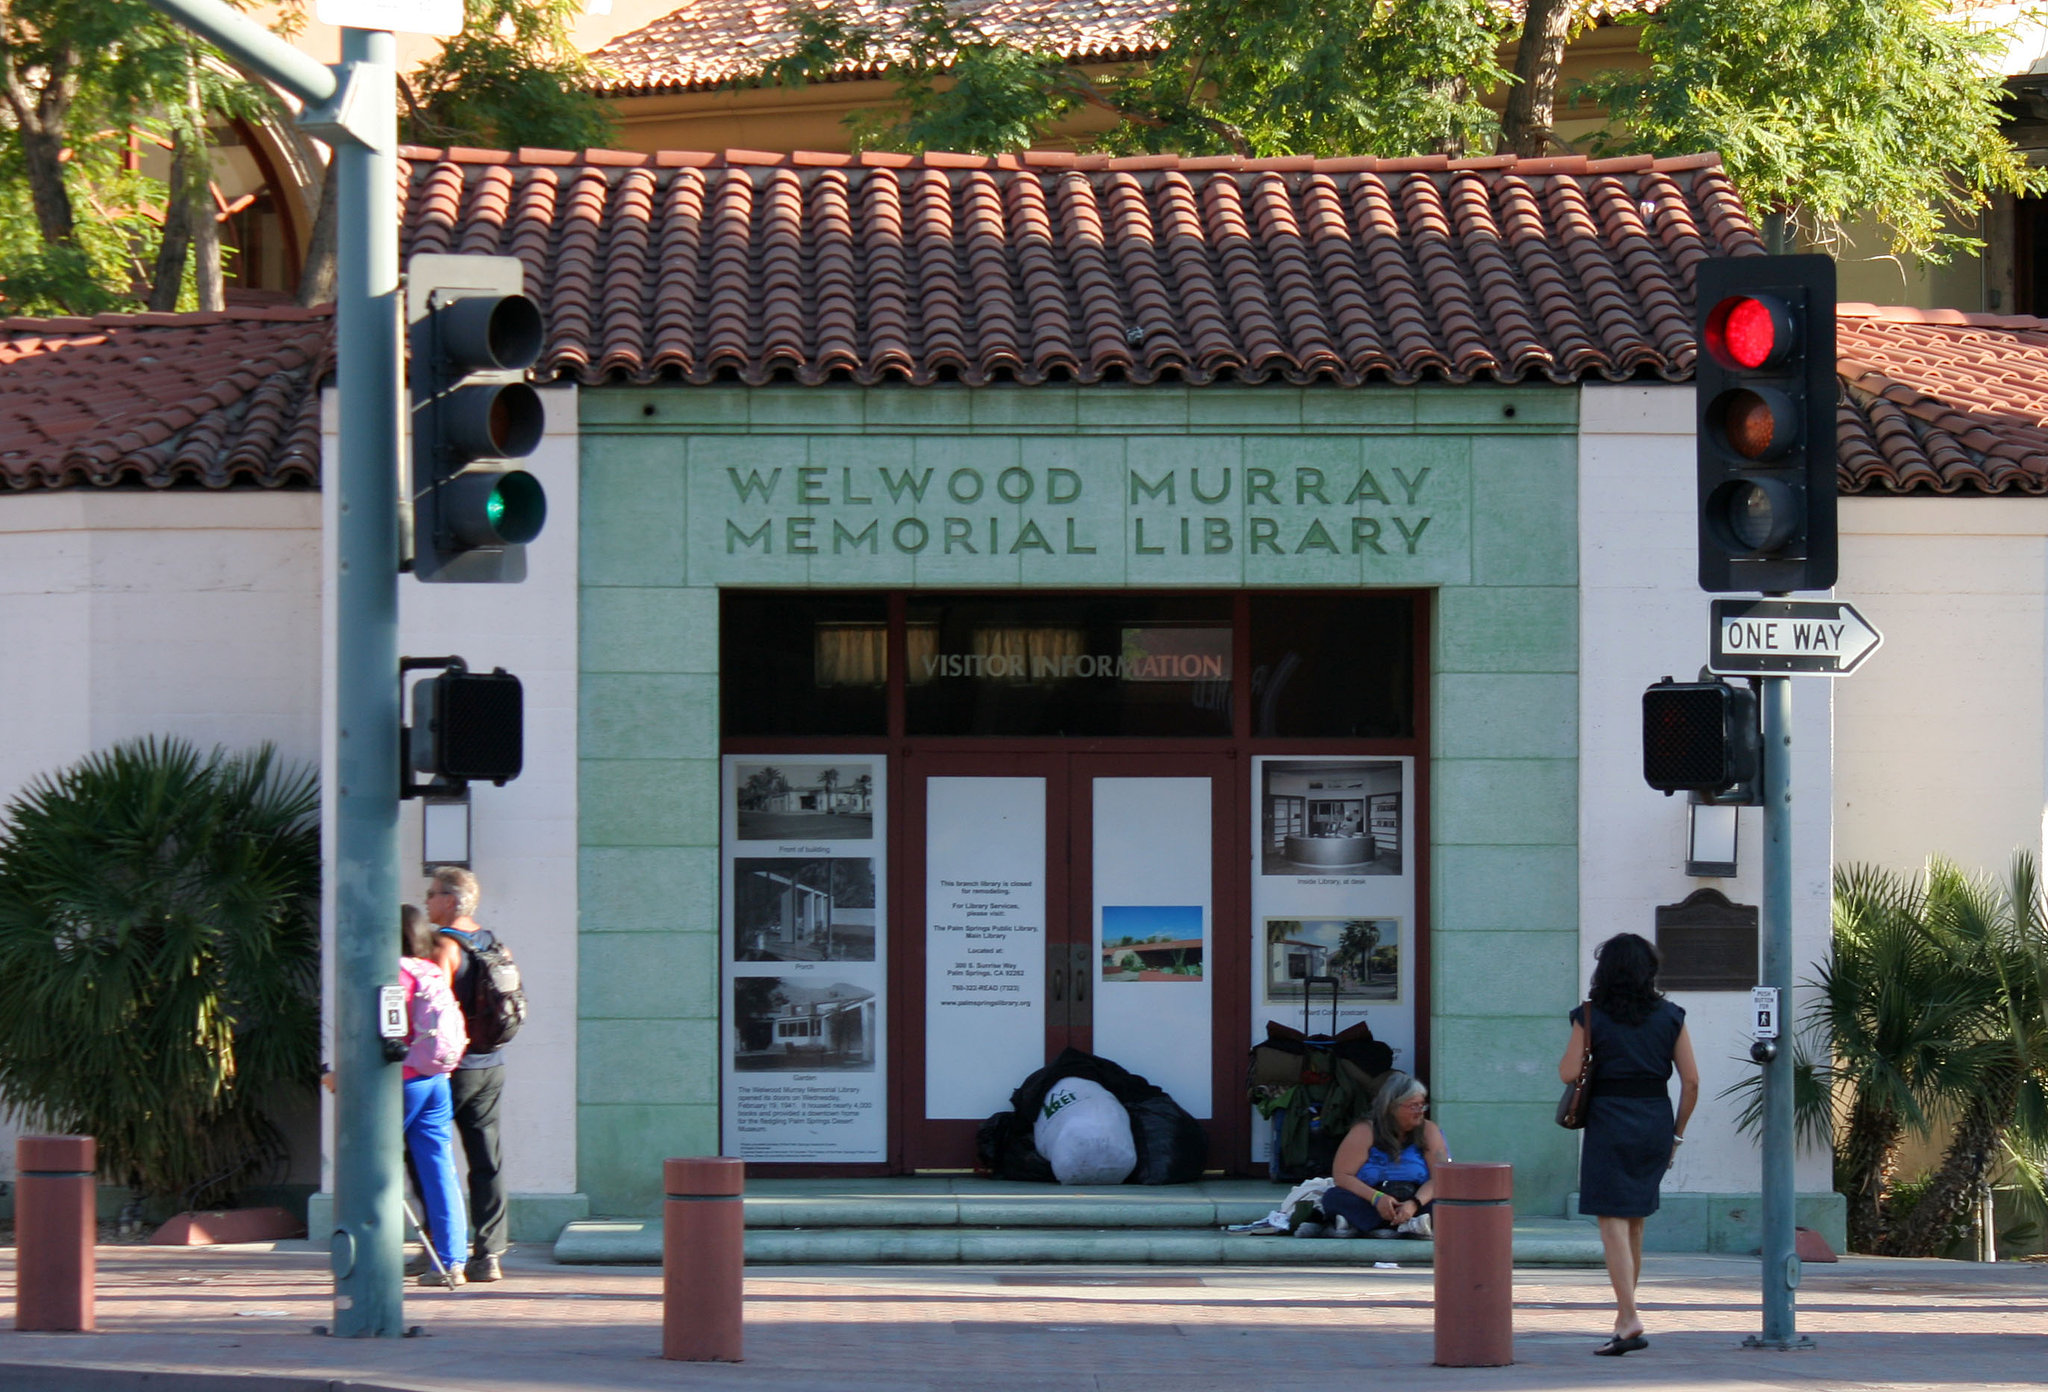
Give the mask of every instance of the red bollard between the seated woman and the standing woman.
[(1505, 1367), (1516, 1361), (1516, 1169), (1438, 1165), (1436, 1363)]

